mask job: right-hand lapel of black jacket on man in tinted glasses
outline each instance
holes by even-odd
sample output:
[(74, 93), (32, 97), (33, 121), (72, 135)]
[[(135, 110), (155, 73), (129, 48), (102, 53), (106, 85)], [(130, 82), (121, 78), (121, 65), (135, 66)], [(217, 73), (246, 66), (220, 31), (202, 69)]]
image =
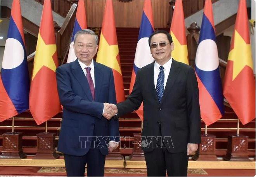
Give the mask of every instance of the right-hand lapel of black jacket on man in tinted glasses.
[(166, 98), (166, 95), (168, 94), (168, 92), (170, 91), (171, 87), (173, 86), (175, 79), (177, 77), (177, 75), (180, 73), (180, 67), (178, 65), (178, 62), (173, 60), (171, 63), (171, 69), (170, 69), (170, 73), (166, 82), (166, 86), (164, 88), (164, 94), (161, 100), (161, 104), (163, 104), (164, 99)]

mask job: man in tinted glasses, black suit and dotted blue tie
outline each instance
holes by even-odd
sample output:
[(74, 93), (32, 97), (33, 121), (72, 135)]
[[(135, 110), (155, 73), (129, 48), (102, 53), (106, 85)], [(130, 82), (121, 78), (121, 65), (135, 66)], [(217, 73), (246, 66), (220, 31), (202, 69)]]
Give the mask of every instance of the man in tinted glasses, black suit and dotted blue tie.
[(189, 154), (201, 142), (197, 79), (192, 67), (171, 57), (174, 44), (168, 32), (151, 34), (149, 46), (155, 61), (138, 70), (124, 102), (107, 107), (120, 117), (143, 101), (141, 145), (147, 175), (166, 176), (167, 170), (168, 176), (187, 176)]

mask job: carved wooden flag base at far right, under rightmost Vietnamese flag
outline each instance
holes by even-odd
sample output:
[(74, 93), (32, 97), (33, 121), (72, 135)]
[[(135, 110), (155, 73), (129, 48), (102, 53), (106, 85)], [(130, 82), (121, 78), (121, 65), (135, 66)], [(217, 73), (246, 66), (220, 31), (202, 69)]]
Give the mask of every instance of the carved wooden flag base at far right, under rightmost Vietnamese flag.
[(227, 154), (223, 160), (228, 161), (251, 161), (248, 157), (248, 136), (228, 136)]

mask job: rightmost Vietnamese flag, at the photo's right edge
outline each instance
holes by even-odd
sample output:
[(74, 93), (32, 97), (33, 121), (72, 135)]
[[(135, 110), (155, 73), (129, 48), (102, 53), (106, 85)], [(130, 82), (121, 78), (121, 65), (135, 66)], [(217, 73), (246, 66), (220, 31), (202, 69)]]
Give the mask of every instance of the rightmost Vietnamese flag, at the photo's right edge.
[(255, 80), (246, 1), (240, 0), (232, 36), (223, 94), (242, 124), (255, 118)]

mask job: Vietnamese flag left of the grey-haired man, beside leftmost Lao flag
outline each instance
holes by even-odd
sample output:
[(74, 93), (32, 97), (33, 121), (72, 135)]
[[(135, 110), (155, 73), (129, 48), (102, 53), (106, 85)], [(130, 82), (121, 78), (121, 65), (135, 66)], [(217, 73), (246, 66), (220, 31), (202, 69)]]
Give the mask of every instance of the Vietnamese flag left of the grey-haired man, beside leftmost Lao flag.
[(51, 2), (45, 0), (29, 92), (29, 109), (38, 125), (61, 111), (55, 77), (57, 66)]

